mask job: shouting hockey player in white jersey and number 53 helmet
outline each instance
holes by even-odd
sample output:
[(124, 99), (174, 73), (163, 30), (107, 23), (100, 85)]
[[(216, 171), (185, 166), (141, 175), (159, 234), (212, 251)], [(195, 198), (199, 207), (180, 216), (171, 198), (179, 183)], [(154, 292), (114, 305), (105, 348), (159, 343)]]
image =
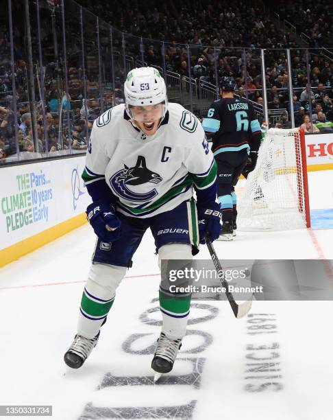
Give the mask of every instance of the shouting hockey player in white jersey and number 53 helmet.
[[(220, 233), (217, 166), (198, 119), (168, 104), (164, 80), (151, 67), (130, 71), (124, 93), (125, 104), (95, 120), (82, 174), (93, 200), (87, 217), (97, 244), (77, 334), (64, 355), (73, 369), (97, 344), (116, 288), (148, 228), (159, 264), (192, 259), (199, 242)], [(161, 285), (160, 310), (162, 332), (151, 367), (167, 373), (186, 334), (190, 294), (171, 294)]]

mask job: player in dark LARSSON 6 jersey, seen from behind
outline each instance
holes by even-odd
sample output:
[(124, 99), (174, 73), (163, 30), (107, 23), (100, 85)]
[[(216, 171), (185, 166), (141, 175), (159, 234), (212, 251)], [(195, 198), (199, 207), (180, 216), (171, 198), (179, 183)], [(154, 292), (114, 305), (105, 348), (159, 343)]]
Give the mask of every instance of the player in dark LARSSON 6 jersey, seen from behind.
[(219, 240), (232, 240), (236, 231), (236, 193), (240, 174), (254, 170), (260, 146), (260, 124), (251, 103), (234, 97), (234, 78), (223, 76), (221, 100), (212, 103), (202, 122), (212, 136), (212, 152), (218, 167), (218, 196), (222, 210)]

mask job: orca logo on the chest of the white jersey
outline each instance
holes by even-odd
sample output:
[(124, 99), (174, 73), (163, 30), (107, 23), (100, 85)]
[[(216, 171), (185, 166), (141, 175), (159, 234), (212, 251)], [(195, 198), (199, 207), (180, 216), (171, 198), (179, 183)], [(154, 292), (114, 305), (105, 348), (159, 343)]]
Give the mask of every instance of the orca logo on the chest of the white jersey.
[(143, 194), (136, 193), (129, 188), (131, 185), (158, 184), (162, 180), (159, 174), (147, 168), (144, 156), (138, 156), (135, 166), (127, 167), (125, 164), (124, 166), (123, 170), (116, 172), (110, 178), (110, 185), (118, 196), (130, 201), (147, 201), (158, 195), (155, 188)]

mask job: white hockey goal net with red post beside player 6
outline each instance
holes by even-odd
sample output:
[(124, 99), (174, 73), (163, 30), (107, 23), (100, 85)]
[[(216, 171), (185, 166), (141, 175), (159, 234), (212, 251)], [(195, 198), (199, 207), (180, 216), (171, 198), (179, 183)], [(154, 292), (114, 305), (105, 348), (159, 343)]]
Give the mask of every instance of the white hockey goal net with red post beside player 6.
[(240, 231), (310, 227), (304, 130), (267, 131), (237, 210)]

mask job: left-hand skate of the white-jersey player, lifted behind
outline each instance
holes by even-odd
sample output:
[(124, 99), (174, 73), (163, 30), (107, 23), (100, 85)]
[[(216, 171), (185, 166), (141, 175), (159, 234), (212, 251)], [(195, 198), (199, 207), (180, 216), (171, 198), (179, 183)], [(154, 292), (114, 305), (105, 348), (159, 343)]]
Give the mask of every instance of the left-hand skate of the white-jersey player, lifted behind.
[(72, 369), (81, 367), (95, 345), (97, 345), (98, 339), (99, 333), (94, 338), (76, 335), (71, 347), (69, 347), (69, 350), (64, 354), (64, 362), (66, 365)]

